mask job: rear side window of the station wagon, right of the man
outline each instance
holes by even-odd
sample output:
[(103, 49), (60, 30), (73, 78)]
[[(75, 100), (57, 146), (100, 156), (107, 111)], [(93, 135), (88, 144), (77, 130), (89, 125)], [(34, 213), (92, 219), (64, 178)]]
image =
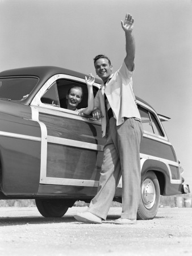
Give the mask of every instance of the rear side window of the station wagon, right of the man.
[(138, 106), (144, 131), (164, 137), (160, 125), (152, 112)]

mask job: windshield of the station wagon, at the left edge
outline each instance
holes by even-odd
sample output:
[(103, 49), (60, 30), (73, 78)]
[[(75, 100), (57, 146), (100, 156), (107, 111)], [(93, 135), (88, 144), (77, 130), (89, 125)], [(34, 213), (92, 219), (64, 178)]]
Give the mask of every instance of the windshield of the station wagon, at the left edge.
[(14, 77), (0, 79), (0, 98), (12, 101), (24, 100), (35, 88), (38, 79), (35, 77)]

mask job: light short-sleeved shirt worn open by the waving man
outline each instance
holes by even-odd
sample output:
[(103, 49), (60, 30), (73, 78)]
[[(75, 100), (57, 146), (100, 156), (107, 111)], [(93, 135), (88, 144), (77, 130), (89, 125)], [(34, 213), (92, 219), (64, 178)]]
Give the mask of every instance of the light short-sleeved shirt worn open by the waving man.
[(124, 122), (124, 117), (141, 119), (133, 93), (132, 75), (133, 71), (128, 71), (123, 61), (123, 65), (109, 77), (110, 80), (106, 84), (101, 85), (101, 89), (98, 90), (95, 96), (94, 108), (99, 108), (103, 115), (101, 118), (103, 137), (106, 134), (105, 94), (117, 126)]

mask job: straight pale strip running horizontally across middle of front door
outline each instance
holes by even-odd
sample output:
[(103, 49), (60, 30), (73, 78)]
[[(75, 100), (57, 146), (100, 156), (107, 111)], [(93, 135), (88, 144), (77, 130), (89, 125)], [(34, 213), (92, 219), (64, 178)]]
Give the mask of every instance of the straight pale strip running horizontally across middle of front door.
[(102, 145), (97, 145), (89, 142), (74, 141), (73, 139), (59, 138), (59, 137), (53, 137), (49, 135), (48, 135), (48, 143), (60, 144), (60, 145), (70, 146), (70, 147), (87, 148), (89, 150), (97, 150), (97, 151), (103, 151), (103, 147), (104, 147)]

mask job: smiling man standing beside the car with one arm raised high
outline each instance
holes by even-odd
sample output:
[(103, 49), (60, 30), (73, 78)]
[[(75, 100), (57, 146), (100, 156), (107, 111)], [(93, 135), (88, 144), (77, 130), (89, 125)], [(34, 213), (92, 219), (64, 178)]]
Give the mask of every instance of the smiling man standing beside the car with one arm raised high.
[(135, 58), (133, 22), (130, 14), (126, 14), (124, 23), (121, 21), (126, 34), (127, 55), (117, 72), (112, 74), (107, 56), (98, 55), (94, 59), (95, 71), (103, 84), (95, 96), (93, 117), (101, 118), (102, 134), (107, 140), (97, 195), (86, 212), (74, 216), (78, 221), (101, 223), (102, 219), (106, 220), (122, 175), (122, 214), (115, 224), (136, 224), (143, 128), (132, 90)]

